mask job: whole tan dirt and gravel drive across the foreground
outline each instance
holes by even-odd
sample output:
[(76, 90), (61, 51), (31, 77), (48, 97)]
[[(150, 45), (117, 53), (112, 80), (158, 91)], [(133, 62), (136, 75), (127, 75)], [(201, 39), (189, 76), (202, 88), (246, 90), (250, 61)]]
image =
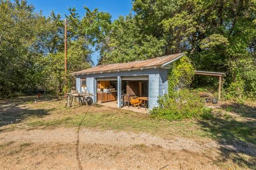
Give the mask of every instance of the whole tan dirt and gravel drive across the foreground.
[(218, 169), (212, 151), (217, 143), (147, 133), (15, 130), (0, 133), (0, 145), (4, 169)]

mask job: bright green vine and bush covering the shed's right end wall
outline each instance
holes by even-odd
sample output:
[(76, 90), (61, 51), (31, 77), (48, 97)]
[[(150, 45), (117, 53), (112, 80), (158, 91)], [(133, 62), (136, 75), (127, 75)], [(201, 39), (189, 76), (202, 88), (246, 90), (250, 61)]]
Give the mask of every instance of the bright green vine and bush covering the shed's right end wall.
[(186, 89), (193, 77), (194, 67), (189, 58), (181, 57), (170, 69), (168, 95), (158, 97), (159, 106), (154, 107), (150, 115), (170, 121), (212, 117), (211, 109), (204, 106), (197, 92)]

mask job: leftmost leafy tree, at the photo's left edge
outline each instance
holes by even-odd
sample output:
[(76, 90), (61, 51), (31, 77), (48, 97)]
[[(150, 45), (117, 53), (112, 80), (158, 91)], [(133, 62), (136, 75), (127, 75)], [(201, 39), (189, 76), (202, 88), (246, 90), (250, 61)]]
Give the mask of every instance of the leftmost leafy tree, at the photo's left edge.
[(0, 96), (12, 97), (34, 83), (37, 54), (29, 47), (35, 43), (41, 15), (33, 10), (25, 1), (0, 1)]

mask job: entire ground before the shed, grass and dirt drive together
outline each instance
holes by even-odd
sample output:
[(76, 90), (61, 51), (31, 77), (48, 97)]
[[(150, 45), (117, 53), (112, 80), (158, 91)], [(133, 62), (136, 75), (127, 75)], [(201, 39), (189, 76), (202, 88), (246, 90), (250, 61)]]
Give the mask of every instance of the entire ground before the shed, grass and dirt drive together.
[(100, 105), (65, 108), (50, 96), (35, 101), (0, 101), (5, 169), (256, 169), (255, 103), (225, 102), (212, 120), (170, 122)]

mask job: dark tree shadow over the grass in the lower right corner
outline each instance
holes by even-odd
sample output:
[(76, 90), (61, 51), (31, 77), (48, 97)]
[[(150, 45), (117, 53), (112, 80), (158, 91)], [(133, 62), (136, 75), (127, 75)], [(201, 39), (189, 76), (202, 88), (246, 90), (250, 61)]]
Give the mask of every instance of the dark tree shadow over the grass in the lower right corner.
[(233, 118), (214, 117), (210, 121), (199, 120), (202, 129), (220, 145), (217, 162), (232, 160), (238, 166), (256, 169), (256, 123)]

